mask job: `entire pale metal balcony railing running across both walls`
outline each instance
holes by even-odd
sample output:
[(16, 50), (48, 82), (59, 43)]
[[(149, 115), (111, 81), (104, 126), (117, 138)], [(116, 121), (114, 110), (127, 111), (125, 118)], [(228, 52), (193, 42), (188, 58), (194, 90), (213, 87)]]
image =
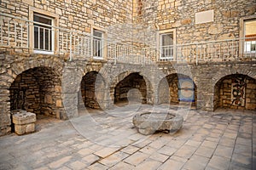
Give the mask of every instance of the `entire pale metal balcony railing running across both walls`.
[[(157, 61), (197, 64), (256, 59), (256, 37), (175, 44), (162, 49), (142, 48), (143, 46), (134, 45), (138, 44), (135, 42), (96, 40), (86, 32), (44, 25), (9, 14), (0, 14), (0, 29), (0, 49), (12, 48), (27, 53), (69, 54), (70, 59), (73, 59), (73, 55), (78, 55), (83, 58), (102, 58), (142, 65)], [(145, 44), (143, 45), (145, 47)]]

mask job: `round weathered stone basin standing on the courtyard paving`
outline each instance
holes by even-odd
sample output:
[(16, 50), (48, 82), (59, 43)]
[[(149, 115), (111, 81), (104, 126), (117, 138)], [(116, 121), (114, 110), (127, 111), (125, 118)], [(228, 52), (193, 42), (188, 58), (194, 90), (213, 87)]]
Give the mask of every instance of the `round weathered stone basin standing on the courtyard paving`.
[(132, 122), (144, 135), (155, 131), (175, 133), (183, 126), (183, 116), (171, 112), (143, 112), (133, 116)]

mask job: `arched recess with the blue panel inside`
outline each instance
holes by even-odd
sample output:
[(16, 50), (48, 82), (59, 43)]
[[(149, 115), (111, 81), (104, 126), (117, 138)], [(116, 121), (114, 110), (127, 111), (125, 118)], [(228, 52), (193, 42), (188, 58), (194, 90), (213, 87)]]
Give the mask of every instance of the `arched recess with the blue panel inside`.
[(195, 82), (183, 74), (164, 77), (159, 85), (159, 103), (168, 105), (196, 105), (197, 88)]

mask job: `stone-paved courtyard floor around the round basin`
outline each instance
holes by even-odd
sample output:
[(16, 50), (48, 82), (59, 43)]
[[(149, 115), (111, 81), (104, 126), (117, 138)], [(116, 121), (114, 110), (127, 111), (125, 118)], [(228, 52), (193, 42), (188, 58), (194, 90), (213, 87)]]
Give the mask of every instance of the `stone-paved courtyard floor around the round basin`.
[(256, 169), (256, 111), (189, 111), (175, 134), (143, 136), (133, 127), (137, 111), (81, 111), (70, 121), (39, 124), (37, 133), (0, 137), (0, 169)]

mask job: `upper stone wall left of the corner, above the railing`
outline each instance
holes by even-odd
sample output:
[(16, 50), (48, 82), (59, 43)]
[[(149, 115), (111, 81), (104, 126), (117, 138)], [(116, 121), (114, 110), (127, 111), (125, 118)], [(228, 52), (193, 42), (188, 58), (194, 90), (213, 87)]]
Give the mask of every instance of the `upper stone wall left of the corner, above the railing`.
[(3, 0), (0, 10), (23, 19), (29, 18), (29, 7), (58, 14), (59, 26), (90, 32), (91, 26), (104, 28), (117, 23), (131, 23), (132, 3), (128, 1), (72, 1), (72, 0)]

